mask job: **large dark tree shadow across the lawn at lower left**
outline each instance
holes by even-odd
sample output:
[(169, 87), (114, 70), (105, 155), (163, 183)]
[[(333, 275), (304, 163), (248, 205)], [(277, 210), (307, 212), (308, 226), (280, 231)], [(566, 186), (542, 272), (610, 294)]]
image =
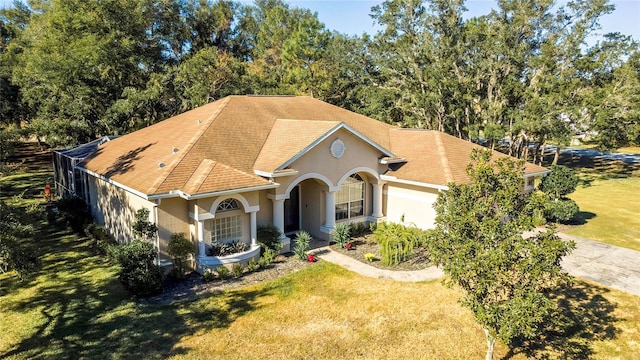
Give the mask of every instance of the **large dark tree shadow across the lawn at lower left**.
[(28, 319), (33, 321), (29, 335), (0, 358), (167, 358), (187, 352), (176, 347), (184, 336), (228, 327), (256, 309), (260, 297), (276, 291), (218, 293), (177, 305), (142, 304), (129, 298), (115, 269), (91, 252), (86, 239), (55, 227), (49, 227), (47, 235), (40, 239), (40, 273), (5, 287), (8, 294), (38, 287), (33, 296), (8, 307), (40, 315)]

